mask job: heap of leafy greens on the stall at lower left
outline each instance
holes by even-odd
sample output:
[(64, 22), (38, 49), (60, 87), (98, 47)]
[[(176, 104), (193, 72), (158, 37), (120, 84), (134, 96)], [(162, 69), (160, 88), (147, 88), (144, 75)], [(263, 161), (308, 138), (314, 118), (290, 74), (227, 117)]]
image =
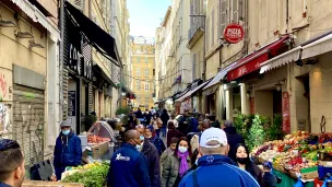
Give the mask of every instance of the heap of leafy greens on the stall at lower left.
[(84, 187), (104, 187), (106, 184), (109, 163), (95, 162), (93, 164), (86, 164), (84, 166), (73, 167), (72, 170), (82, 170), (82, 172), (73, 173), (66, 176), (61, 182), (63, 183), (80, 183), (84, 184)]

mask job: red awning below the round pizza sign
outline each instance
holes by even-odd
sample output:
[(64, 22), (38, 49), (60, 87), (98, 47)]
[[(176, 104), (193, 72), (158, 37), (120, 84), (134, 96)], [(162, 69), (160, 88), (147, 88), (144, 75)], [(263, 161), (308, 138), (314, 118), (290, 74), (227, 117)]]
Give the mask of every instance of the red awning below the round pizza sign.
[(283, 46), (284, 42), (289, 38), (289, 35), (283, 36), (277, 40), (258, 49), (257, 51), (244, 57), (237, 61), (236, 66), (228, 71), (227, 81), (233, 81), (237, 78), (240, 78), (245, 74), (248, 74), (252, 71), (260, 69), (260, 65), (272, 56), (277, 55), (277, 50)]

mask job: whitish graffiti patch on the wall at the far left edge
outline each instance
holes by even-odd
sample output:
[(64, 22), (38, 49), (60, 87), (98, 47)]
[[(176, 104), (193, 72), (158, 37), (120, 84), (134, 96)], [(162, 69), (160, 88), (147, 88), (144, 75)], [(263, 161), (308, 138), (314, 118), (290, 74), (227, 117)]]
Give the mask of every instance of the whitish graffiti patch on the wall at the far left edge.
[(11, 128), (11, 107), (9, 104), (0, 103), (0, 135), (7, 133)]

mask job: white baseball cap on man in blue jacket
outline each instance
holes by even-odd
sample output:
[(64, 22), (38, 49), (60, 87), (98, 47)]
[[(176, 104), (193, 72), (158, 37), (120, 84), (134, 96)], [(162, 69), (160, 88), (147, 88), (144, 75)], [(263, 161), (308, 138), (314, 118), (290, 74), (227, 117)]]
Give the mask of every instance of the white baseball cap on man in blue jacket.
[[(220, 142), (220, 144), (210, 145), (209, 142), (212, 140)], [(203, 148), (218, 148), (227, 145), (227, 136), (225, 131), (220, 128), (209, 128), (203, 131), (200, 145)]]

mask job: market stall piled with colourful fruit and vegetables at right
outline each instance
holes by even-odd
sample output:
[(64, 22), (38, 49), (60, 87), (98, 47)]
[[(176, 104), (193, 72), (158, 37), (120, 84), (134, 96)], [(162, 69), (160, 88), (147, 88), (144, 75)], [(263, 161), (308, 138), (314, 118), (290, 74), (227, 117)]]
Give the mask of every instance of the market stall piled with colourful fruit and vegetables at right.
[(332, 173), (332, 133), (296, 131), (284, 140), (263, 143), (252, 150), (259, 163), (272, 162), (278, 186), (293, 186), (301, 177), (305, 186), (319, 186)]

